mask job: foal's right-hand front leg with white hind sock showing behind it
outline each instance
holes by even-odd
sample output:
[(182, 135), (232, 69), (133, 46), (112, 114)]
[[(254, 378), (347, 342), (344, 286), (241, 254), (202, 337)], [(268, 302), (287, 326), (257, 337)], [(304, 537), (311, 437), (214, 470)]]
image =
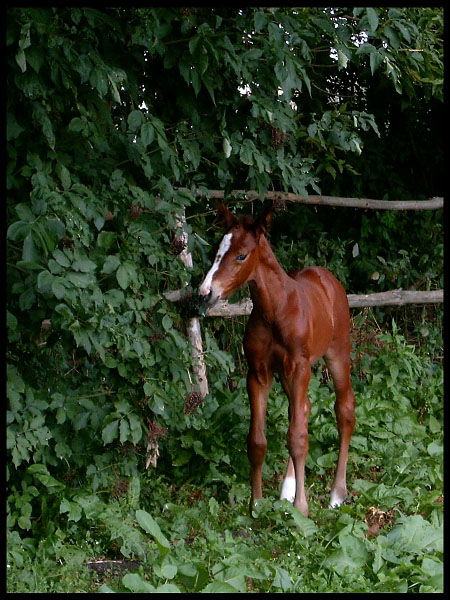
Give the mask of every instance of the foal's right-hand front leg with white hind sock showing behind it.
[[(309, 361), (306, 359), (299, 361), (291, 373), (287, 377), (282, 378), (283, 387), (289, 397), (287, 443), (290, 460), (281, 497), (291, 499), (290, 495), (295, 494), (294, 506), (305, 517), (308, 516), (308, 502), (305, 492), (305, 463), (309, 447), (308, 417), (311, 410), (311, 403), (307, 392), (310, 378), (311, 367)], [(290, 489), (288, 490), (287, 488)]]

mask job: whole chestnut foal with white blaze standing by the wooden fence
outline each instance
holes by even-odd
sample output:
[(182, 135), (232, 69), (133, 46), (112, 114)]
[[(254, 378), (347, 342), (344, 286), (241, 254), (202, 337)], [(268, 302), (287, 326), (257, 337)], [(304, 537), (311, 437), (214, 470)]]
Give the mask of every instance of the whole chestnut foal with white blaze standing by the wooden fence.
[(331, 506), (347, 496), (346, 468), (355, 426), (355, 396), (350, 381), (350, 315), (347, 295), (335, 277), (322, 267), (287, 274), (265, 237), (272, 213), (258, 219), (234, 216), (222, 203), (217, 210), (226, 229), (214, 263), (199, 287), (207, 306), (248, 282), (253, 310), (244, 334), (248, 363), (247, 391), (251, 421), (247, 452), (251, 466), (250, 513), (262, 498), (262, 465), (267, 399), (274, 372), (289, 398), (287, 444), (289, 461), (281, 489), (305, 516), (308, 503), (304, 472), (308, 453), (307, 397), (311, 365), (324, 357), (336, 391), (335, 413), (340, 448), (331, 488)]

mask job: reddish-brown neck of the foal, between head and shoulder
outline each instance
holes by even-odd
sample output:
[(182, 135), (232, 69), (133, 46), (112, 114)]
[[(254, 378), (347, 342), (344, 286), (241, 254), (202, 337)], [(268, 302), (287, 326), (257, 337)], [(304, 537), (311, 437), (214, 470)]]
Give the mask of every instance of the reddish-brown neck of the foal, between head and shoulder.
[(260, 241), (260, 260), (255, 276), (249, 282), (254, 309), (261, 317), (273, 323), (277, 309), (285, 303), (292, 280), (277, 261), (269, 242)]

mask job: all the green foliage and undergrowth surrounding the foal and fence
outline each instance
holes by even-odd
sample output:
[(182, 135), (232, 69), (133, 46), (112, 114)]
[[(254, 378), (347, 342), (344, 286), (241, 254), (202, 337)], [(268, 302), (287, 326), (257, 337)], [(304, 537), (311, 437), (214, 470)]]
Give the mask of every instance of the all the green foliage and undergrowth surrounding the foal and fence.
[[(208, 189), (442, 195), (442, 38), (432, 7), (8, 10), (11, 591), (55, 589), (45, 578), (33, 588), (35, 556), (78, 568), (95, 553), (154, 565), (151, 584), (120, 584), (132, 591), (321, 591), (336, 573), (348, 591), (440, 589), (440, 309), (378, 311), (390, 333), (371, 344), (376, 327), (355, 316), (355, 504), (330, 513), (321, 500), (336, 430), (318, 368), (317, 526), (284, 504), (263, 504), (250, 524), (243, 320), (203, 320), (211, 393), (193, 412), (189, 306), (163, 293), (195, 288), (208, 267), (219, 231)], [(276, 208), (287, 269), (322, 264), (352, 293), (442, 287), (442, 211)], [(177, 256), (183, 214), (192, 270)], [(273, 493), (286, 427), (275, 386)], [(161, 455), (146, 471), (148, 432)], [(396, 513), (375, 541), (370, 506)], [(319, 569), (314, 588), (307, 573)]]

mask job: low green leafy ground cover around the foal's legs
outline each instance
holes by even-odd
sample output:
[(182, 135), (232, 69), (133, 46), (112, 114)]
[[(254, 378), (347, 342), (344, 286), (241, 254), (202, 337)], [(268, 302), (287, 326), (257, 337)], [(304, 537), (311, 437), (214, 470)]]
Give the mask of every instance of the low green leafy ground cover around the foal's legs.
[[(327, 507), (337, 433), (331, 388), (321, 380), (317, 370), (310, 386), (309, 519), (278, 499), (287, 423), (275, 388), (265, 498), (256, 518), (248, 515), (249, 484), (230, 475), (232, 468), (223, 480), (203, 484), (151, 469), (117, 486), (116, 498), (82, 487), (61, 497), (55, 491), (52, 528), (36, 520), (8, 532), (7, 591), (442, 592), (442, 366), (395, 325), (364, 350), (353, 377), (350, 497), (339, 509)], [(86, 562), (101, 558), (134, 560), (138, 568), (92, 575)]]

